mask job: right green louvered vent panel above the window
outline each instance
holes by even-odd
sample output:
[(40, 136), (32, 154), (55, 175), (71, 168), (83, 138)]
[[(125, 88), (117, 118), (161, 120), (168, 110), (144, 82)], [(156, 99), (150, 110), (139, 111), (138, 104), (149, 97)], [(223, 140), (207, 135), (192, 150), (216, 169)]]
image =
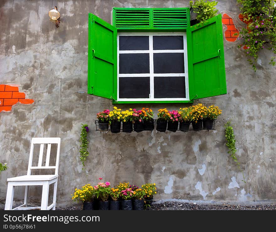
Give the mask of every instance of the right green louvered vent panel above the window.
[(187, 28), (188, 10), (180, 9), (153, 9), (153, 27), (154, 28)]

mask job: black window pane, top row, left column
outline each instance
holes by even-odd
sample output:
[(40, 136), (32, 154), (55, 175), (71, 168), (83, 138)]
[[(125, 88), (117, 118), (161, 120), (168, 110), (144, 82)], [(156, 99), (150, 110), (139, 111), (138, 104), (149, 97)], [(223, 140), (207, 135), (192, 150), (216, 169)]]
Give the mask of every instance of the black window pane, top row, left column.
[(119, 36), (119, 50), (149, 50), (149, 37)]

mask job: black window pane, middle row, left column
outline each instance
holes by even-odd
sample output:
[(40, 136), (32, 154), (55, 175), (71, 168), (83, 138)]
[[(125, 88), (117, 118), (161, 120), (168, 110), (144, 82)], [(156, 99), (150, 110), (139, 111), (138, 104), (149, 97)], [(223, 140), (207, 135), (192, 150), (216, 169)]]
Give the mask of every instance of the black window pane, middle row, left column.
[(149, 53), (119, 54), (119, 73), (150, 73)]

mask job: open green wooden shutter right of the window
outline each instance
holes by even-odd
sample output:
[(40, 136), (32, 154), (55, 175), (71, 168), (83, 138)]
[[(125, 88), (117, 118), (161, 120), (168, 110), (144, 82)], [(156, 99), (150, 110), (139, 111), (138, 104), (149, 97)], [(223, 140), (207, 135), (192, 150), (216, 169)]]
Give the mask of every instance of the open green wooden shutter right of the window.
[(187, 31), (189, 97), (226, 94), (221, 14)]

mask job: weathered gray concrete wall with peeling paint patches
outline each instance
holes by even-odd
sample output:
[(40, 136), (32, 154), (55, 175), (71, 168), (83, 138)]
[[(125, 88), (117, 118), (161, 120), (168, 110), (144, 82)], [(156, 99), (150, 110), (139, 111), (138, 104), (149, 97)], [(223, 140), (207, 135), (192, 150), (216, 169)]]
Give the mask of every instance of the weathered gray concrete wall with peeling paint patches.
[[(2, 0), (0, 3), (0, 84), (19, 85), (33, 104), (16, 103), (0, 113), (0, 174), (3, 207), (7, 178), (27, 171), (32, 137), (60, 137), (61, 159), (57, 203), (73, 204), (74, 189), (98, 178), (141, 186), (155, 182), (156, 200), (184, 199), (218, 202), (276, 200), (275, 68), (263, 51), (254, 72), (238, 42), (224, 39), (227, 94), (196, 100), (194, 104), (222, 109), (213, 131), (112, 134), (95, 131), (96, 113), (112, 109), (111, 100), (87, 94), (88, 13), (111, 22), (112, 7), (188, 7), (187, 0)], [(229, 14), (241, 29), (236, 1), (219, 0), (219, 13)], [(57, 6), (61, 24), (49, 21)], [(226, 26), (223, 27), (226, 30)], [(185, 104), (130, 104), (122, 108), (178, 109)], [(231, 119), (242, 174), (227, 154), (224, 124)], [(81, 124), (88, 124), (86, 169), (79, 159)], [(40, 188), (32, 188), (36, 198)], [(14, 199), (23, 199), (16, 188)]]

